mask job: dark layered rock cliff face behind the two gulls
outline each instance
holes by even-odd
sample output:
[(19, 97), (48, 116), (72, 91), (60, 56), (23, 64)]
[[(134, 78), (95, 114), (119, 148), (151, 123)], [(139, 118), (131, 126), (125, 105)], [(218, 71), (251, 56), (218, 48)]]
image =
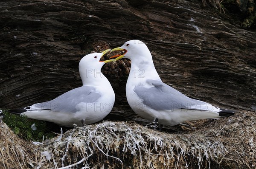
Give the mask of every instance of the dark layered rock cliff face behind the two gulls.
[[(130, 39), (148, 45), (163, 82), (221, 107), (256, 110), (256, 32), (201, 1), (0, 2), (0, 107), (54, 99), (81, 85), (79, 60)], [(129, 61), (106, 64), (108, 118), (136, 118), (125, 99)], [(139, 120), (140, 121), (140, 120)]]

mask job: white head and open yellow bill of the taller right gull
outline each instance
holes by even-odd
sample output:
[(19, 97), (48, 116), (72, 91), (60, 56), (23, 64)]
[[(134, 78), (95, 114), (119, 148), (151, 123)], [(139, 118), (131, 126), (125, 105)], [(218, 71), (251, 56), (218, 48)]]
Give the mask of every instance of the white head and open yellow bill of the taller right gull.
[(125, 51), (125, 53), (122, 55), (116, 55), (111, 57), (117, 57), (115, 60), (119, 60), (121, 58), (128, 58), (132, 62), (138, 59), (152, 60), (152, 56), (150, 54), (150, 51), (148, 50), (148, 47), (140, 40), (129, 40), (125, 42), (125, 44), (123, 44), (121, 47), (112, 49), (111, 52), (112, 51)]

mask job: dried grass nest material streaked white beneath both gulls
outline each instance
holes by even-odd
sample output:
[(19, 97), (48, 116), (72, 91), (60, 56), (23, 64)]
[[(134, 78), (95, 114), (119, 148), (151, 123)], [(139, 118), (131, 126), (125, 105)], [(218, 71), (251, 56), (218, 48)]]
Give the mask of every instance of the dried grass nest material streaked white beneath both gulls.
[[(180, 133), (159, 132), (134, 122), (105, 121), (75, 127), (41, 145), (33, 145), (33, 149), (24, 141), (3, 141), (2, 135), (7, 132), (2, 131), (0, 161), (7, 166), (6, 158), (16, 159), (26, 152), (28, 157), (20, 159), (24, 168), (253, 169), (255, 121), (255, 112), (242, 111), (231, 118), (196, 121), (194, 130)], [(21, 148), (9, 148), (10, 154), (6, 155), (2, 142), (9, 142), (4, 146)]]

